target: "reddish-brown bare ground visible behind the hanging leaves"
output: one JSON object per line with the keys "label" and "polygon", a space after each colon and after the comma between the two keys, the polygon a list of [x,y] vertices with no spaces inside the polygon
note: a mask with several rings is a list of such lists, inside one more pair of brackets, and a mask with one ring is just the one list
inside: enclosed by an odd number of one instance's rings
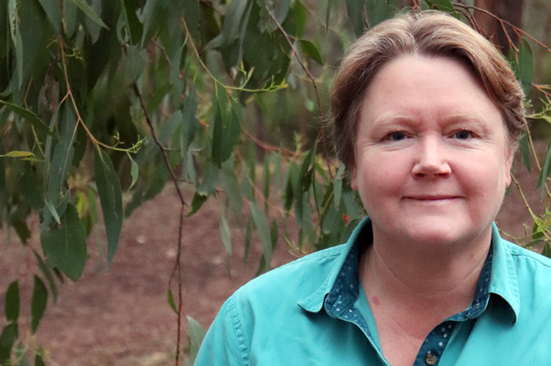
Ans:
{"label": "reddish-brown bare ground visible behind the hanging leaves", "polygon": [[[545,148],[545,144],[538,144],[538,148]],[[538,206],[537,177],[520,168],[518,158],[515,165],[515,176],[530,204]],[[101,261],[96,236],[103,240],[102,231],[91,236],[91,259],[82,279],[60,284],[57,303],[52,303],[50,297],[36,334],[36,342],[45,348],[47,365],[174,365],[176,314],[167,303],[166,293],[176,257],[179,209],[174,189],[167,187],[156,199],[135,211],[123,224],[119,251],[107,272],[98,270]],[[513,186],[497,223],[508,234],[522,236],[522,223],[528,219],[524,201]],[[38,222],[30,224],[33,233],[37,233]],[[34,235],[29,247],[39,248]],[[252,279],[257,269],[259,243],[253,241],[248,266],[243,266],[243,236],[239,230],[232,231],[232,235],[234,250],[229,277],[227,255],[218,231],[218,203],[207,202],[185,222],[183,311],[204,328],[216,317],[225,299]],[[0,231],[1,294],[10,281],[20,278],[21,291],[28,301],[32,291],[29,268],[33,263],[29,247],[22,247],[13,232]],[[294,258],[280,239],[272,267]],[[3,312],[3,298],[0,305]],[[4,325],[5,320],[0,317],[0,326]],[[28,330],[28,321],[22,321],[20,328]]]}

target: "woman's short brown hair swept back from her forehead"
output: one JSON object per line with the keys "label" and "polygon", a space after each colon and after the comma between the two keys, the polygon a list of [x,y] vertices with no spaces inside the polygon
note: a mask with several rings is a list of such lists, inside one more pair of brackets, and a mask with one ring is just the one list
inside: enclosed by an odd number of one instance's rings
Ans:
{"label": "woman's short brown hair swept back from her forehead", "polygon": [[333,80],[329,128],[338,158],[354,165],[359,111],[377,72],[403,55],[445,56],[467,65],[501,110],[511,147],[526,129],[524,92],[497,49],[467,24],[438,11],[410,12],[370,29],[349,48]]}

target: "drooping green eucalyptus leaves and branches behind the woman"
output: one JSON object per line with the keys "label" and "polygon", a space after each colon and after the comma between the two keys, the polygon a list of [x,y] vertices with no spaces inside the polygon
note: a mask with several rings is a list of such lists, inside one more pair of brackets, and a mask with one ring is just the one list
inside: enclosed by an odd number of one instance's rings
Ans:
{"label": "drooping green eucalyptus leaves and branches behind the woman", "polygon": [[[48,296],[56,301],[59,282],[82,275],[86,238],[100,220],[98,199],[106,267],[123,219],[167,182],[187,217],[218,199],[228,257],[230,225],[248,216],[239,229],[245,231],[245,262],[252,238],[259,238],[258,273],[269,270],[278,241],[304,253],[345,241],[365,212],[324,137],[326,90],[345,45],[405,11],[400,3],[4,1],[0,221],[29,245],[27,219],[40,220],[40,249],[31,248],[40,275],[33,275],[32,332]],[[473,20],[473,9],[453,4],[423,0],[419,6]],[[531,118],[551,121],[550,89],[532,86],[534,43],[526,39],[509,61],[527,94],[543,93],[544,107]],[[529,171],[537,167],[548,203],[551,145],[543,165],[536,160],[533,167],[531,144],[530,135],[522,139],[522,162]],[[551,213],[545,212],[533,214],[534,230],[519,242],[544,241],[548,255]],[[298,227],[296,236],[289,234],[291,225]],[[16,354],[28,356],[17,342],[24,337],[17,319],[26,305],[18,283],[6,292],[1,365]],[[179,312],[170,290],[167,302]],[[188,330],[193,360],[204,333],[193,319]],[[40,352],[34,360],[44,364]]]}

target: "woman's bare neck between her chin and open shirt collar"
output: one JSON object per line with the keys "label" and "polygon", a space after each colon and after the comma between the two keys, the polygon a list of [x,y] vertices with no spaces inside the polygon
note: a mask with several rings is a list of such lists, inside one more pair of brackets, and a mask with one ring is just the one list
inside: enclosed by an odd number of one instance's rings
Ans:
{"label": "woman's bare neck between her chin and open shirt collar", "polygon": [[[491,241],[491,229],[470,243],[388,243],[373,232],[360,277],[370,304],[442,321],[472,302]],[[395,309],[400,311],[400,309]]]}

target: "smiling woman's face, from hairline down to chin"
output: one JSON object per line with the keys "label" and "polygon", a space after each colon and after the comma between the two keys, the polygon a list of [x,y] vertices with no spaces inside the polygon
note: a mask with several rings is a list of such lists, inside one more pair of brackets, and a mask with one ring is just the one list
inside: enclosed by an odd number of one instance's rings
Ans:
{"label": "smiling woman's face, from hairline down to chin", "polygon": [[491,233],[513,152],[497,106],[458,61],[402,56],[358,121],[352,187],[377,238],[474,243]]}

